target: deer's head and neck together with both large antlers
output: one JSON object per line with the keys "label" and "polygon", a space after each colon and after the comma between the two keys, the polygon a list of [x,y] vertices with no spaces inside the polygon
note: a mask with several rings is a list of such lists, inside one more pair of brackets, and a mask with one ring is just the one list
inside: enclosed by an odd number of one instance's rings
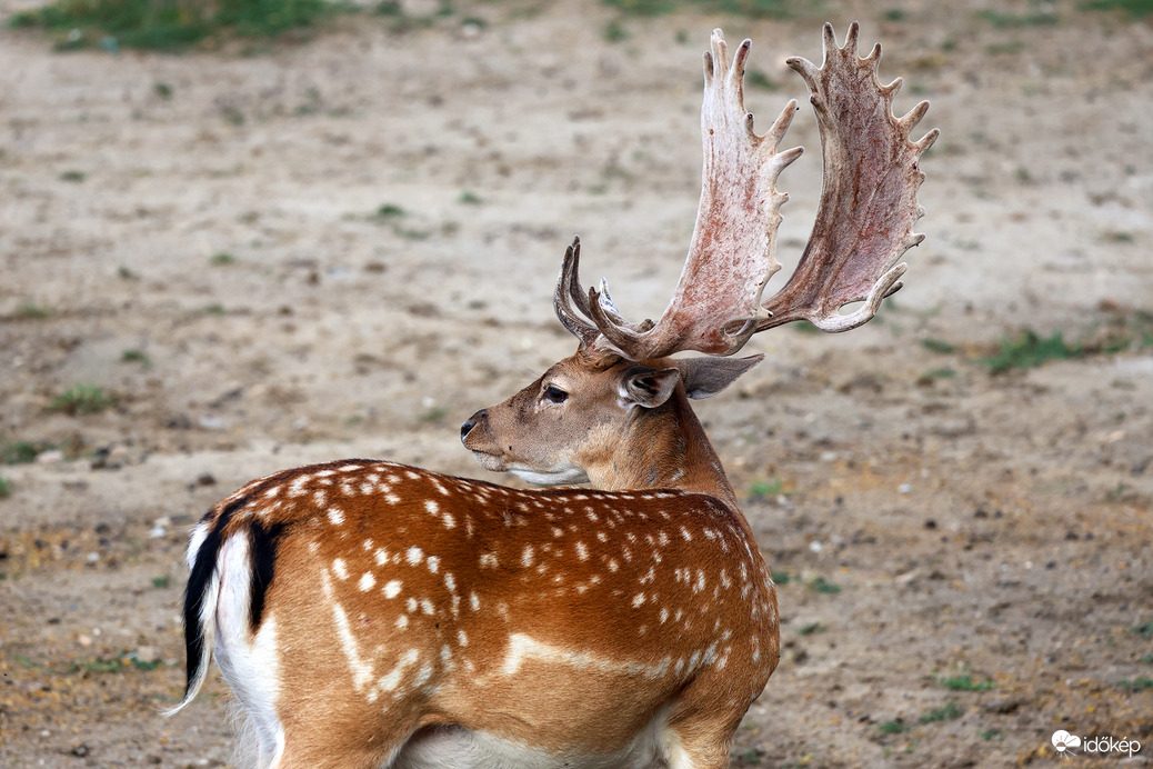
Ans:
{"label": "deer's head and neck together with both large antlers", "polygon": [[[823,148],[821,206],[808,246],[787,284],[762,294],[781,265],[775,258],[781,172],[801,154],[781,142],[797,111],[790,101],[759,135],[745,111],[744,74],[749,40],[730,61],[719,30],[704,54],[701,201],[688,256],[661,318],[630,323],[604,281],[582,288],[580,240],[565,251],[553,307],[579,340],[576,354],[504,402],[477,412],[461,440],[491,470],[510,470],[544,485],[591,480],[606,489],[683,483],[731,497],[686,398],[715,394],[762,356],[669,357],[699,350],[733,355],[754,333],[793,321],[824,331],[847,331],[869,321],[898,288],[900,256],[924,235],[912,232],[924,214],[918,163],[937,137],[917,142],[910,130],[925,115],[922,101],[892,115],[900,80],[877,80],[881,46],[857,55],[859,28],[838,46],[824,27],[824,62],[787,63],[807,83]],[[864,304],[851,314],[841,308]],[[688,444],[692,444],[689,446]]]}

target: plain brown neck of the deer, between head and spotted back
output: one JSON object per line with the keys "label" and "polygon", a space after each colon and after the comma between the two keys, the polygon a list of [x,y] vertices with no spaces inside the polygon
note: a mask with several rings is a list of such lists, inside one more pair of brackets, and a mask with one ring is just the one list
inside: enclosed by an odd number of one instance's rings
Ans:
{"label": "plain brown neck of the deer, between head and spotted back", "polygon": [[739,510],[721,460],[683,393],[662,408],[639,410],[624,433],[605,438],[585,462],[594,485],[609,491],[698,491]]}

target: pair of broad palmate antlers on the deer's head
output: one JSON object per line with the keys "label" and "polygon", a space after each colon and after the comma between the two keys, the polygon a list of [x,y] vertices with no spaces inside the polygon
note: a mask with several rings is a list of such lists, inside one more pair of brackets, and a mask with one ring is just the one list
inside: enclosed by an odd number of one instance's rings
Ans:
{"label": "pair of broad palmate antlers on the deer's head", "polygon": [[[801,153],[800,148],[777,150],[797,103],[790,101],[769,131],[758,136],[743,89],[752,44],[745,40],[730,65],[724,37],[714,30],[711,51],[704,54],[701,203],[680,280],[657,323],[628,323],[603,280],[600,289],[581,288],[580,241],[574,240],[553,303],[583,352],[634,361],[687,349],[731,355],[754,333],[792,321],[807,319],[824,331],[854,329],[900,287],[905,265],[896,262],[924,239],[912,232],[925,213],[917,203],[925,179],[918,161],[939,131],[910,141],[928,101],[900,119],[892,115],[902,81],[882,85],[877,80],[880,44],[865,59],[857,55],[859,29],[856,22],[850,25],[839,47],[826,24],[820,68],[800,58],[787,61],[812,95],[824,180],[808,246],[785,287],[761,303],[766,284],[781,269],[774,249],[787,196],[776,190],[776,180]],[[862,300],[854,312],[839,312]]]}

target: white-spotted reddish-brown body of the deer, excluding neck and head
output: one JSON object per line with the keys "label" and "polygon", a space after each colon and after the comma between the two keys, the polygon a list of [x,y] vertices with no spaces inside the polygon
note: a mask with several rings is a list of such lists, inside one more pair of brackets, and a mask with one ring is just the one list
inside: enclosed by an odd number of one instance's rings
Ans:
{"label": "white-spotted reddish-brown body of the deer, excluding neck and head", "polygon": [[[768,568],[740,513],[699,492],[352,460],[251,483],[196,537],[218,664],[285,767],[648,767],[702,738],[726,757],[777,663]],[[534,759],[464,760],[476,740]]]}

